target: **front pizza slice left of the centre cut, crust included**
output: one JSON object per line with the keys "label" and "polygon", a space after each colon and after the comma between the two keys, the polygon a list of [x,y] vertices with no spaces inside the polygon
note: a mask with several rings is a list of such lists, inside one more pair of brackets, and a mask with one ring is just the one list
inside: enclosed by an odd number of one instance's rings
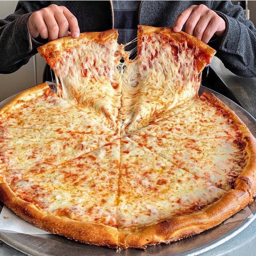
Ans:
{"label": "front pizza slice left of the centre cut, crust included", "polygon": [[[45,230],[116,248],[119,166],[120,139],[117,139],[44,173],[15,182],[10,186],[15,193],[11,196],[20,199],[1,200],[26,221]],[[0,196],[3,186],[7,184],[0,184]]]}

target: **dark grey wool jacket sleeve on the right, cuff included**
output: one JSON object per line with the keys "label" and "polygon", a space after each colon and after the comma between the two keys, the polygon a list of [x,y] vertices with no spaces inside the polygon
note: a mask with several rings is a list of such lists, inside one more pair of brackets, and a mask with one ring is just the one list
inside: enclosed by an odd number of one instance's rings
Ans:
{"label": "dark grey wool jacket sleeve on the right, cuff included", "polygon": [[211,9],[226,22],[226,31],[219,43],[209,45],[217,50],[225,67],[242,77],[256,77],[256,29],[243,18],[243,8],[231,1],[211,1]]}

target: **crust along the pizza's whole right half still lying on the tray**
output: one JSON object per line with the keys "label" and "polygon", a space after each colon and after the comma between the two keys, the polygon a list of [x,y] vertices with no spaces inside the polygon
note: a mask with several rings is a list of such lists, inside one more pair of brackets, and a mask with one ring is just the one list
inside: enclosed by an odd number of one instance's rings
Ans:
{"label": "crust along the pizza's whole right half still lying on the tray", "polygon": [[212,93],[205,92],[200,99],[205,99],[216,108],[221,108],[225,115],[239,126],[241,139],[245,146],[247,163],[242,173],[234,183],[234,189],[226,192],[221,199],[207,206],[203,210],[185,215],[172,217],[158,224],[119,230],[120,248],[141,248],[146,245],[174,242],[208,230],[225,219],[231,217],[246,205],[253,202],[256,192],[256,139],[250,133],[240,118]]}

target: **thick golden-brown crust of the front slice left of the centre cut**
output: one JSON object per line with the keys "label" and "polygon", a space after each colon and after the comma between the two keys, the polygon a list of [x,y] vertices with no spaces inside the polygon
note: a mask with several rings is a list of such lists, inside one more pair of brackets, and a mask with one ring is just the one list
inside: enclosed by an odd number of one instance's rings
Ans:
{"label": "thick golden-brown crust of the front slice left of the centre cut", "polygon": [[118,247],[116,228],[103,224],[74,221],[43,212],[32,203],[17,197],[7,183],[0,184],[0,200],[25,221],[51,233],[64,235],[67,238],[91,245]]}

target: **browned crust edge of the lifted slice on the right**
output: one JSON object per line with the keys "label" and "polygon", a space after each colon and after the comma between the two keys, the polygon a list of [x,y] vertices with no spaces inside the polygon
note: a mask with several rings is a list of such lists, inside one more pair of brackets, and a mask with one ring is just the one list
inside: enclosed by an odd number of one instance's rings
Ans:
{"label": "browned crust edge of the lifted slice on the right", "polygon": [[216,53],[216,51],[206,45],[206,43],[183,31],[176,33],[171,27],[150,27],[142,25],[138,25],[138,52],[140,51],[139,44],[142,35],[152,35],[154,33],[159,33],[170,39],[174,39],[175,41],[187,42],[187,45],[198,47],[200,50],[200,53],[196,56],[198,73],[200,73],[203,68],[210,63],[211,58]]}

